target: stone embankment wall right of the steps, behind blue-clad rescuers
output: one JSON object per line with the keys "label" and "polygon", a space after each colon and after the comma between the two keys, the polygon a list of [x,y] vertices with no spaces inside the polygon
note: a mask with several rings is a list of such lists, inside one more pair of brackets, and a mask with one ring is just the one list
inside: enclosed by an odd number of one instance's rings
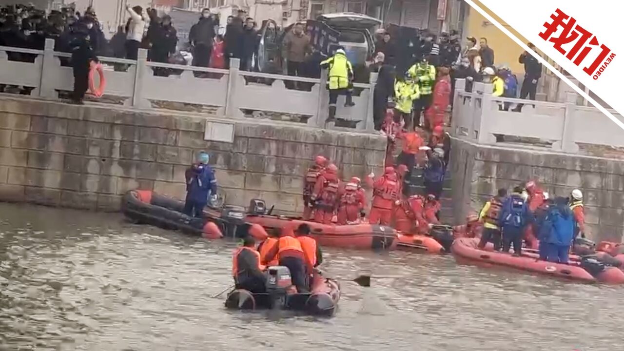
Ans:
{"label": "stone embankment wall right of the steps, behind blue-clad rescuers", "polygon": [[552,196],[583,191],[585,220],[593,239],[622,241],[624,162],[563,153],[482,146],[452,139],[452,199],[456,222],[477,211],[505,187],[537,180]]}

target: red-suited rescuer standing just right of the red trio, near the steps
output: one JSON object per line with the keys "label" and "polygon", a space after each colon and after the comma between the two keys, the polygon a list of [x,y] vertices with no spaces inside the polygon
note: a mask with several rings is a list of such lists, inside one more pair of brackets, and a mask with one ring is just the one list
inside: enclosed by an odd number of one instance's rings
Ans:
{"label": "red-suited rescuer standing just right of the red trio, near the steps", "polygon": [[389,225],[392,219],[392,206],[399,197],[399,182],[393,167],[386,167],[384,175],[374,180],[374,173],[368,175],[373,184],[373,206],[368,215],[370,224]]}

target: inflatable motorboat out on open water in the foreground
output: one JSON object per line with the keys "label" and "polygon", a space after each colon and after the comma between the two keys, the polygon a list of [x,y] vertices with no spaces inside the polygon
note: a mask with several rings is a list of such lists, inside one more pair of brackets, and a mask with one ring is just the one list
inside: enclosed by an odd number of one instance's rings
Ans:
{"label": "inflatable motorboat out on open water in the foreground", "polygon": [[228,309],[285,309],[331,317],[340,299],[340,285],[314,272],[310,293],[298,294],[287,267],[271,266],[266,270],[266,292],[256,294],[245,289],[232,290],[225,299]]}

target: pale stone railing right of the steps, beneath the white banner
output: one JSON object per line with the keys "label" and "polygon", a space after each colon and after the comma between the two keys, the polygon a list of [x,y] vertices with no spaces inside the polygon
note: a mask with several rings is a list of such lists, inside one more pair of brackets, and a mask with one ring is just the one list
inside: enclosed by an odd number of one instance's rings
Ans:
{"label": "pale stone railing right of the steps, beneath the white banner", "polygon": [[[624,131],[595,107],[577,106],[577,94],[568,93],[565,103],[530,101],[494,97],[492,84],[475,83],[472,92],[466,92],[465,85],[464,79],[456,82],[451,124],[455,137],[496,144],[495,134],[500,134],[568,153],[577,152],[579,144],[624,147]],[[521,112],[513,111],[517,104],[524,104]]]}

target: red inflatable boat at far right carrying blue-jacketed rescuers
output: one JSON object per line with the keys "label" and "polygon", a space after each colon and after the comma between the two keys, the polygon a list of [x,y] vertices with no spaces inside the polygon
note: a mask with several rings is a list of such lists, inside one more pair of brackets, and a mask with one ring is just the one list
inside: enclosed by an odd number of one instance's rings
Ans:
{"label": "red inflatable boat at far right carrying blue-jacketed rescuers", "polygon": [[571,259],[568,264],[560,264],[540,260],[534,250],[526,250],[522,256],[517,257],[495,252],[491,244],[485,249],[479,249],[477,244],[479,244],[479,239],[459,238],[455,240],[451,252],[457,263],[481,267],[507,267],[583,283],[624,284],[622,270],[592,258],[577,257],[577,259]]}

